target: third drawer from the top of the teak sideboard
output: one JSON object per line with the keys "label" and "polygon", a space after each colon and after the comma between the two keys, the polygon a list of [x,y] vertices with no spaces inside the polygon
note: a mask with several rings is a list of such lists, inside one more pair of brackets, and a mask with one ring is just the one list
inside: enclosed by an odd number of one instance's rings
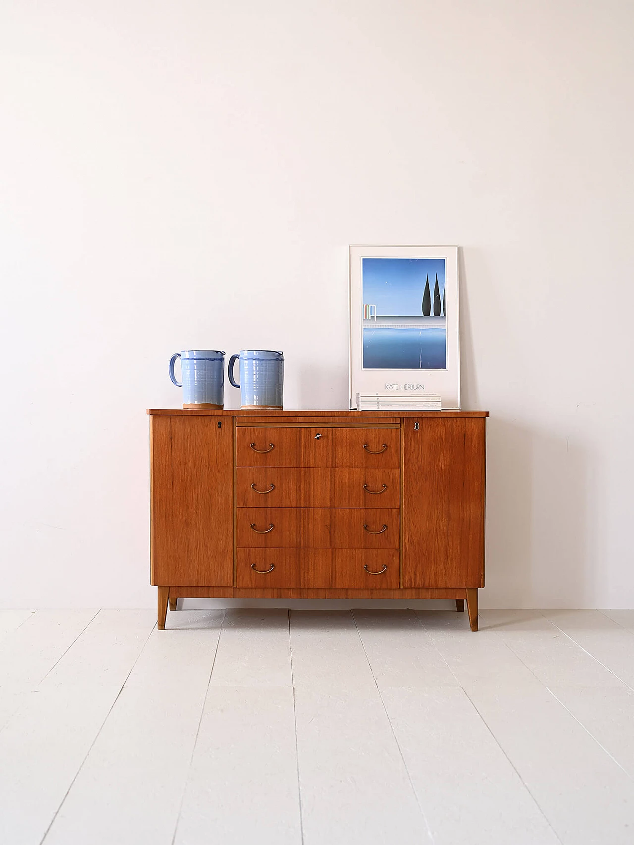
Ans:
{"label": "third drawer from the top of the teak sideboard", "polygon": [[399,548],[398,508],[238,508],[238,548]]}

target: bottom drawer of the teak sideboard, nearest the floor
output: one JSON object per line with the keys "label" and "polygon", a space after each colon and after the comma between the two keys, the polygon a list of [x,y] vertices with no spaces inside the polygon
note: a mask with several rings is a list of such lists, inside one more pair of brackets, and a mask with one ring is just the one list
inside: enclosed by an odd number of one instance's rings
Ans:
{"label": "bottom drawer of the teak sideboard, nearest the floor", "polygon": [[238,548],[236,586],[391,590],[399,563],[396,549]]}

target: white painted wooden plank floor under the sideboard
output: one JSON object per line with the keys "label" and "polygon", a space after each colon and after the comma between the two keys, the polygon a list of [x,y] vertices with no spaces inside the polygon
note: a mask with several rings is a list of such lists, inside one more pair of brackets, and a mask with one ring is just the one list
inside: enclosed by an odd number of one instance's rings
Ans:
{"label": "white painted wooden plank floor under the sideboard", "polygon": [[634,611],[0,611],[7,845],[631,845]]}

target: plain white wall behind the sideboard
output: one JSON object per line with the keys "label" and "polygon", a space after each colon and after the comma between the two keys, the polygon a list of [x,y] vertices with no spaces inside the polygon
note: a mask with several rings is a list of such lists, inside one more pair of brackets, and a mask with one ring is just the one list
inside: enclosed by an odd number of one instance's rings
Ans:
{"label": "plain white wall behind the sideboard", "polygon": [[0,17],[3,605],[152,605],[171,353],[283,349],[288,408],[346,407],[347,244],[457,243],[481,602],[634,606],[631,3]]}

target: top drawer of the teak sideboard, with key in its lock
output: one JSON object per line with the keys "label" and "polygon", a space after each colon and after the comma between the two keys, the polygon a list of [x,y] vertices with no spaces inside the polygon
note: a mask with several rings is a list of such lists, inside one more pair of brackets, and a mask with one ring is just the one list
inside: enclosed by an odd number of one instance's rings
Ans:
{"label": "top drawer of the teak sideboard, with key in its lock", "polygon": [[401,429],[252,426],[236,429],[238,466],[401,466]]}

